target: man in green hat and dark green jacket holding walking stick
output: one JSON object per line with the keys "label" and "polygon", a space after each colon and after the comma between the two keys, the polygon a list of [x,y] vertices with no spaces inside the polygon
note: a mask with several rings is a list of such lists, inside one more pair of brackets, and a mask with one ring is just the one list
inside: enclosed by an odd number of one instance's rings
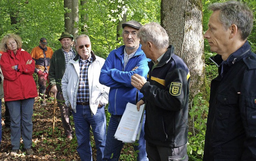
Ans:
{"label": "man in green hat and dark green jacket holding walking stick", "polygon": [[61,90],[61,79],[65,73],[66,66],[70,59],[73,59],[76,56],[76,52],[71,47],[71,42],[73,40],[73,35],[68,32],[62,32],[59,41],[62,44],[62,47],[54,51],[52,59],[50,62],[49,69],[49,81],[51,86],[51,92],[54,94],[54,97],[58,100],[58,106],[60,108],[62,124],[64,132],[66,134],[66,141],[72,139],[72,127],[70,125],[70,108],[65,105],[64,98]]}

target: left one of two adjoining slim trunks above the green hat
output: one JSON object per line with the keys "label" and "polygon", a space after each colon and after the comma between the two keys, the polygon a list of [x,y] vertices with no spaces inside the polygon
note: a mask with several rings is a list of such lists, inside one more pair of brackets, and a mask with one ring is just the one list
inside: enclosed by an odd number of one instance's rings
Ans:
{"label": "left one of two adjoining slim trunks above the green hat", "polygon": [[73,26],[72,26],[72,0],[64,0],[64,18],[65,18],[65,31],[72,34]]}

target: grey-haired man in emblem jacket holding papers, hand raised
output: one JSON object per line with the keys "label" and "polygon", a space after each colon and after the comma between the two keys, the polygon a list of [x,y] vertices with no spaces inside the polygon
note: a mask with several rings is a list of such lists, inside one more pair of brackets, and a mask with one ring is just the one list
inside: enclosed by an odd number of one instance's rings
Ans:
{"label": "grey-haired man in emblem jacket holding papers, hand raised", "polygon": [[165,29],[157,23],[138,31],[148,63],[147,81],[134,74],[131,84],[143,94],[145,103],[146,152],[152,161],[187,161],[188,94],[190,73],[184,61],[174,54]]}

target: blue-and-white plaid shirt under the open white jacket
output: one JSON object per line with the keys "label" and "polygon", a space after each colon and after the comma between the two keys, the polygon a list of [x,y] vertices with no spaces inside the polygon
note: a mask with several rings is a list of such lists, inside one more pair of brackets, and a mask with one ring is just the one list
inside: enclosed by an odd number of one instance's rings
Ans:
{"label": "blue-and-white plaid shirt under the open white jacket", "polygon": [[80,77],[76,102],[89,102],[88,67],[91,63],[91,56],[85,61],[79,57]]}

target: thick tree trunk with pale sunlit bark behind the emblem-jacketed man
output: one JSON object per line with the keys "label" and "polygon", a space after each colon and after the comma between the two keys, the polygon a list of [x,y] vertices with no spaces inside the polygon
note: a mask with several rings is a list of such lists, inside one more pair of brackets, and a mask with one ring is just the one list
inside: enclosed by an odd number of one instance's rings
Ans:
{"label": "thick tree trunk with pale sunlit bark behind the emblem-jacketed man", "polygon": [[162,0],[161,25],[169,35],[175,54],[190,69],[190,99],[206,92],[202,0]]}

